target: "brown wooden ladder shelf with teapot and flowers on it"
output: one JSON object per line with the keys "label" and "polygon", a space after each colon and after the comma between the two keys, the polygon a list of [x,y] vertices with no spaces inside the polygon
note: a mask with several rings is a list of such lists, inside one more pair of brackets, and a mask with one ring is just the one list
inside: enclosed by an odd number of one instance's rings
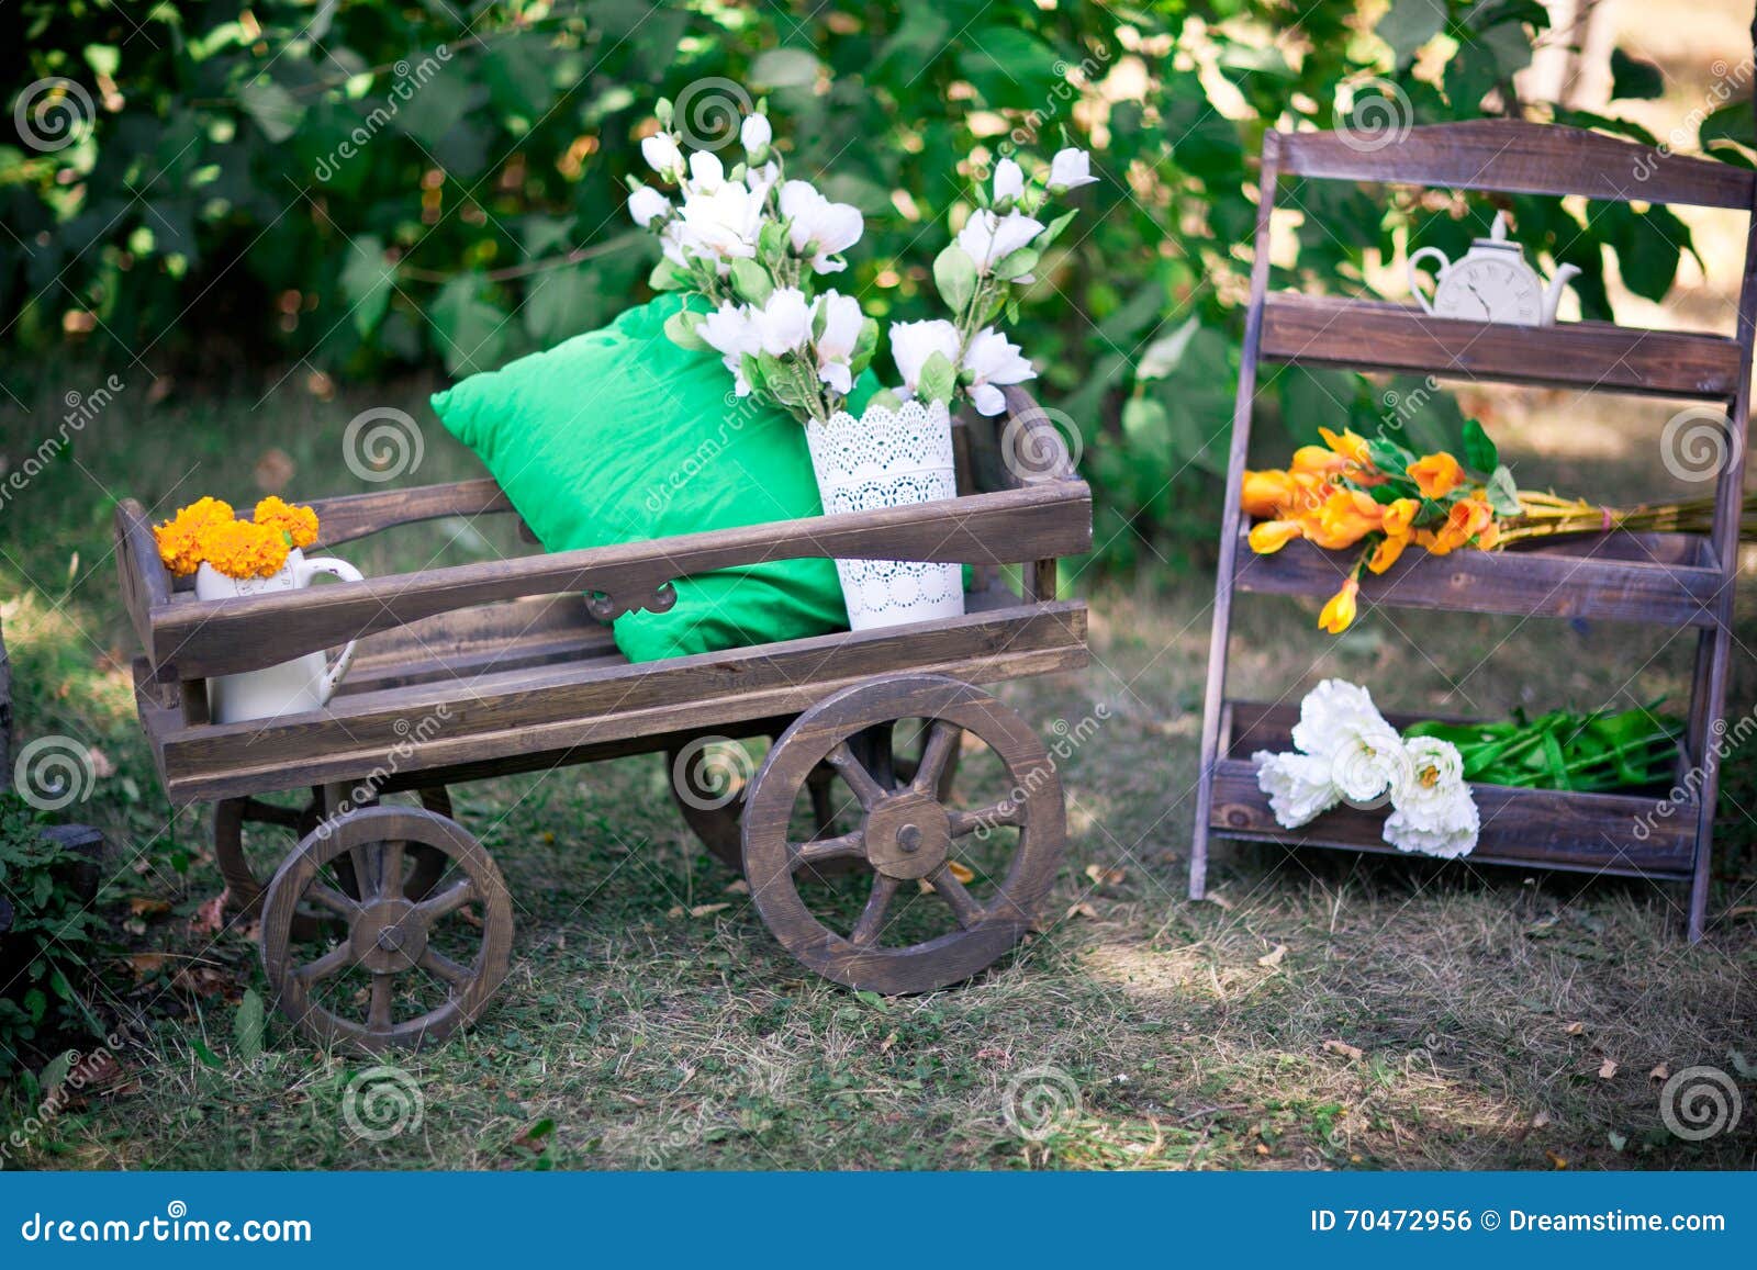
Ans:
{"label": "brown wooden ladder shelf with teapot and flowers on it", "polygon": [[[1638,172],[1646,177],[1638,179]],[[1578,128],[1476,119],[1411,128],[1370,153],[1353,137],[1328,132],[1270,132],[1263,139],[1256,260],[1233,409],[1202,718],[1202,775],[1189,861],[1193,899],[1207,887],[1211,836],[1393,850],[1381,840],[1383,812],[1337,808],[1302,829],[1277,826],[1249,755],[1288,748],[1298,710],[1226,697],[1233,594],[1330,595],[1353,564],[1353,557],[1305,541],[1290,543],[1274,555],[1253,555],[1246,543],[1249,518],[1239,508],[1239,492],[1260,362],[1696,399],[1724,406],[1732,427],[1745,429],[1750,418],[1757,216],[1746,237],[1736,339],[1602,321],[1513,327],[1434,318],[1379,300],[1269,293],[1269,223],[1283,176],[1757,211],[1757,177],[1750,170],[1659,155]],[[1671,815],[1655,815],[1655,801],[1641,796],[1472,785],[1483,831],[1469,855],[1486,864],[1690,882],[1690,940],[1701,938],[1708,913],[1720,768],[1713,727],[1725,713],[1732,653],[1745,446],[1729,446],[1729,453],[1715,483],[1715,520],[1708,536],[1613,532],[1565,538],[1536,550],[1455,552],[1444,559],[1409,552],[1383,576],[1365,576],[1360,588],[1363,608],[1601,618],[1697,632],[1678,769],[1685,803]]]}

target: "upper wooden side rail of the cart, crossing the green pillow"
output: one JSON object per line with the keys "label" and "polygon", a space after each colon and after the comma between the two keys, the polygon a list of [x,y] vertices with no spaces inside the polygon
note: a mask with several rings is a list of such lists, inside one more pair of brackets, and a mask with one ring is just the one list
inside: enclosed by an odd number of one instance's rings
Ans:
{"label": "upper wooden side rail of the cart, crossing the green pillow", "polygon": [[968,499],[169,604],[153,613],[149,655],[160,678],[186,680],[257,669],[436,613],[522,595],[596,590],[618,608],[633,608],[675,578],[763,560],[1019,564],[1089,546],[1086,485],[1044,481]]}

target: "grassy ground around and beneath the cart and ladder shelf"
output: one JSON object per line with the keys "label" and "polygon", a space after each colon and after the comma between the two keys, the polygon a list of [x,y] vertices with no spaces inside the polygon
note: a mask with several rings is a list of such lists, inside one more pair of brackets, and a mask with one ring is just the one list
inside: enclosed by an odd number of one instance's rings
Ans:
{"label": "grassy ground around and beneath the cart and ladder shelf", "polygon": [[[30,415],[0,415],[14,464],[63,390],[40,388]],[[1650,1077],[1660,1064],[1734,1072],[1757,1059],[1748,755],[1729,764],[1720,920],[1701,947],[1681,938],[1676,887],[1469,862],[1223,848],[1214,901],[1193,905],[1184,884],[1207,578],[1133,590],[1077,578],[1093,601],[1093,666],[1001,689],[1045,738],[1100,703],[1110,713],[1063,764],[1074,841],[1047,929],[952,991],[878,999],[805,971],[689,836],[655,757],[453,790],[459,819],[515,896],[513,973],[473,1031],[394,1059],[420,1091],[418,1128],[362,1138],[344,1103],[372,1063],[323,1052],[272,1017],[251,1057],[237,1019],[246,994],[267,985],[249,933],[190,927],[221,887],[206,808],[167,815],[132,718],[132,636],[107,557],[112,495],[160,513],[204,492],[242,497],[271,448],[295,467],[292,497],[367,488],[341,462],[346,420],[381,404],[429,418],[422,385],[325,402],[292,381],[255,409],[260,395],[174,390],[153,402],[144,381],[130,385],[76,439],[77,464],[60,462],[4,511],[0,617],[19,738],[76,736],[114,769],[77,810],[111,840],[100,906],[118,943],[86,989],[132,1038],[119,1070],[35,1131],[18,1163],[1753,1165],[1748,1070],[1745,1122],[1704,1144],[1666,1133]],[[427,423],[413,480],[473,473]],[[430,525],[346,555],[383,573],[517,550],[510,530],[480,529]],[[1746,643],[1750,617],[1745,597]],[[1281,692],[1337,673],[1374,685],[1388,708],[1497,713],[1681,699],[1687,689],[1690,648],[1667,632],[1399,613],[1397,625],[1369,618],[1332,643],[1312,618],[1295,603],[1244,603],[1233,690]],[[1753,669],[1741,653],[1734,713],[1757,697]],[[726,906],[691,915],[708,905]],[[1601,1075],[1606,1061],[1615,1072]],[[1047,1138],[1009,1126],[1009,1100],[1066,1091],[1077,1105]],[[28,1110],[21,1089],[9,1091],[0,1129]]]}

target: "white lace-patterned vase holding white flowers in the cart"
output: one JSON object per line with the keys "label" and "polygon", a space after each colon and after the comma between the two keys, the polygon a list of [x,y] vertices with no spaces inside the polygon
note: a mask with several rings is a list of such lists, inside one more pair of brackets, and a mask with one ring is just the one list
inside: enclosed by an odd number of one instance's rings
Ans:
{"label": "white lace-patterned vase holding white flowers in the cart", "polygon": [[[944,404],[873,406],[861,418],[840,411],[826,423],[806,423],[805,439],[826,515],[958,497],[952,420]],[[854,631],[965,611],[958,564],[836,560],[836,573]]]}

